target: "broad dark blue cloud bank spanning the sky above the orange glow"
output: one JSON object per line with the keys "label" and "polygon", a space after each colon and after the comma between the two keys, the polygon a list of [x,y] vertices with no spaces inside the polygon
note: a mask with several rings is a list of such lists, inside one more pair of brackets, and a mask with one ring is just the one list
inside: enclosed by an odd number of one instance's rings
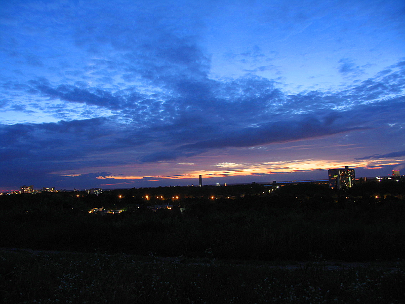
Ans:
{"label": "broad dark blue cloud bank spanning the sky above the orange glow", "polygon": [[[2,155],[7,160],[70,160],[77,166],[84,166],[80,159],[92,157],[106,164],[174,161],[211,149],[367,130],[383,121],[382,112],[389,115],[385,120],[399,121],[405,105],[403,96],[391,96],[405,87],[399,64],[333,93],[286,95],[274,82],[251,75],[230,81],[183,77],[171,81],[171,91],[156,96],[141,94],[136,87],[113,92],[82,83],[55,87],[46,79],[30,81],[35,92],[49,98],[107,107],[115,115],[2,126]],[[29,86],[18,88],[26,91]],[[51,104],[47,111],[68,117],[69,111],[63,107],[66,105]],[[84,112],[85,116],[91,117],[92,112]],[[121,159],[109,158],[108,153]]]}

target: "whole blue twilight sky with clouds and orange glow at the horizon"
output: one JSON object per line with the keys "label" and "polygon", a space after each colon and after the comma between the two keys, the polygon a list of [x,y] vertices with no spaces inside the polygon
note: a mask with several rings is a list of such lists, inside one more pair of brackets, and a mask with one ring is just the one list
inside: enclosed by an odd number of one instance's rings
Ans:
{"label": "whole blue twilight sky with clouds and orange glow at the horizon", "polygon": [[405,2],[0,0],[0,191],[405,173]]}

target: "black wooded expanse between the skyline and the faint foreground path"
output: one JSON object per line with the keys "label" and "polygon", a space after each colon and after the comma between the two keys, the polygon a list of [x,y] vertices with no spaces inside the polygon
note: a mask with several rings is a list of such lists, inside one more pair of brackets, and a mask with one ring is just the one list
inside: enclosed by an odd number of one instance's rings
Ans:
{"label": "black wooded expanse between the skyline and the faint foreground path", "polygon": [[[155,204],[173,207],[147,208]],[[2,247],[263,260],[405,258],[401,181],[342,191],[251,184],[3,195],[0,207]],[[125,211],[89,214],[95,207]]]}

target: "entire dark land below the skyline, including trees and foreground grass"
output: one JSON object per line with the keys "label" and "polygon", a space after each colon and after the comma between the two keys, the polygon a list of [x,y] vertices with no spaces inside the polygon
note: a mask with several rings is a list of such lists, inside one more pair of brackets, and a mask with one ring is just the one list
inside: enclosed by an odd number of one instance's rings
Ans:
{"label": "entire dark land below the skyline, including trees and foreground grass", "polygon": [[[156,212],[143,189],[3,195],[0,247],[38,251],[0,251],[0,301],[405,302],[403,182],[255,187],[168,199],[172,209]],[[125,211],[88,213],[101,206]]]}

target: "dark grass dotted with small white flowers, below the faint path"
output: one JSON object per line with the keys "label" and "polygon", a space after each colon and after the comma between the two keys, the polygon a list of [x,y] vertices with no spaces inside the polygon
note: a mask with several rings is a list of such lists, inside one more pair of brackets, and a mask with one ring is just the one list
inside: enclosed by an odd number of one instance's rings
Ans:
{"label": "dark grass dotted with small white flowers, below the faint path", "polygon": [[0,252],[6,303],[400,303],[404,262],[326,267],[125,254]]}

